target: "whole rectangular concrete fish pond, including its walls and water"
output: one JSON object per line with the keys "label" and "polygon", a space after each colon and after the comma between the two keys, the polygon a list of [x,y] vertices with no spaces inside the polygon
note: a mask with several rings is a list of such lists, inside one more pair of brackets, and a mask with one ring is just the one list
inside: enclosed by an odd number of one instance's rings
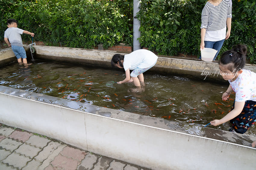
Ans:
{"label": "whole rectangular concrete fish pond, including its walls and water", "polygon": [[145,74],[145,91],[134,94],[130,84],[107,84],[124,76],[109,68],[115,52],[33,48],[28,68],[10,64],[10,49],[0,51],[7,64],[0,69],[1,123],[149,169],[256,165],[254,127],[244,135],[226,131],[228,124],[204,127],[233,104],[221,100],[228,85],[217,63],[159,57]]}

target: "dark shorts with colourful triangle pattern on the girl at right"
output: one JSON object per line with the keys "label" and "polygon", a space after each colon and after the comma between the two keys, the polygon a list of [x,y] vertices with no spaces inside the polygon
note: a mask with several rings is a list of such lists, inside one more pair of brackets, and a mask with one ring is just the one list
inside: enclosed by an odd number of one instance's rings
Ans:
{"label": "dark shorts with colourful triangle pattern on the girl at right", "polygon": [[[234,109],[235,102],[232,106]],[[234,130],[237,133],[245,133],[252,124],[256,121],[256,102],[252,100],[246,100],[245,106],[242,112],[235,118],[230,120],[230,123],[233,125]]]}

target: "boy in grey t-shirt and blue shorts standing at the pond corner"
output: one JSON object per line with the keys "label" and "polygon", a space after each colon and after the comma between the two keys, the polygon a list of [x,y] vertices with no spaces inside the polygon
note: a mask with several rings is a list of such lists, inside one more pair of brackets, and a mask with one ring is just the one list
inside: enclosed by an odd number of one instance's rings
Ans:
{"label": "boy in grey t-shirt and blue shorts standing at the pond corner", "polygon": [[25,33],[34,37],[34,33],[17,28],[18,24],[15,19],[8,19],[7,26],[8,28],[5,31],[5,42],[9,47],[11,46],[12,51],[18,59],[18,63],[22,64],[23,62],[24,66],[27,66],[27,55],[20,34]]}

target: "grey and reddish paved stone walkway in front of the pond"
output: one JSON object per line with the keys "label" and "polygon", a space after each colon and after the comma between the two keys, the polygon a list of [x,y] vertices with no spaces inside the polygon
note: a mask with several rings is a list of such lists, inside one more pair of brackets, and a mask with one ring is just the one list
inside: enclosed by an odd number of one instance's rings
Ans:
{"label": "grey and reddish paved stone walkway in front of the pond", "polygon": [[0,126],[0,170],[57,169],[148,170],[24,130]]}

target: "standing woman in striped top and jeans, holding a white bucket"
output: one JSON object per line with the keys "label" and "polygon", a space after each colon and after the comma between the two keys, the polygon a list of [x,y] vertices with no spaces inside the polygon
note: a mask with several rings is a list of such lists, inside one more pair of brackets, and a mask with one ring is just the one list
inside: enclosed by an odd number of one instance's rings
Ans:
{"label": "standing woman in striped top and jeans, holding a white bucket", "polygon": [[[216,59],[224,40],[228,39],[231,30],[232,0],[209,0],[201,14],[200,50],[213,48],[217,50]],[[226,32],[226,28],[227,32]],[[201,59],[201,56],[200,56]]]}

